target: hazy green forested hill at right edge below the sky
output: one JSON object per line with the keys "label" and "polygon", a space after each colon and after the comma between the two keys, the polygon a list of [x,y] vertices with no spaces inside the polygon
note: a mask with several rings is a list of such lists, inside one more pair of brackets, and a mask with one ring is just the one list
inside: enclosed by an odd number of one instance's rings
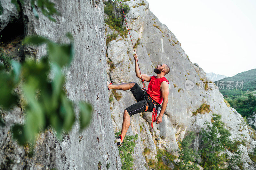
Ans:
{"label": "hazy green forested hill at right edge below the sky", "polygon": [[[223,82],[224,81],[224,82]],[[233,77],[227,77],[219,80],[219,83],[217,81],[214,81],[214,83],[220,88],[220,82],[224,84],[224,89],[231,90],[233,87],[236,89],[236,85],[238,85],[237,89],[242,90],[242,91],[254,91],[256,90],[256,69],[244,71],[241,73],[236,74]],[[243,87],[242,87],[243,86]]]}

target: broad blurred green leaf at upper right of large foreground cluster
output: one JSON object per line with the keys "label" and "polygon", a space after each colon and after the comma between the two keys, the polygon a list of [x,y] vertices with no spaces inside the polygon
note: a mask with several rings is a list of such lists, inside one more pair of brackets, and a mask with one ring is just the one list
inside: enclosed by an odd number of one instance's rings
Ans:
{"label": "broad blurred green leaf at upper right of large foreground cluster", "polygon": [[59,45],[51,42],[48,44],[48,49],[52,63],[56,63],[60,67],[71,63],[73,59],[73,47],[71,44]]}

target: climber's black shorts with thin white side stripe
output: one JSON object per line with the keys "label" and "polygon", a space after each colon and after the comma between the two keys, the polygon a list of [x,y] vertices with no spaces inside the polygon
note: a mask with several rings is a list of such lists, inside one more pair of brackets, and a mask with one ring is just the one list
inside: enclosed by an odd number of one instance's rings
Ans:
{"label": "climber's black shorts with thin white side stripe", "polygon": [[[125,110],[127,110],[130,117],[134,114],[144,112],[146,110],[146,107],[148,105],[148,110],[146,112],[152,112],[154,108],[154,103],[157,102],[152,100],[152,98],[148,97],[149,95],[146,93],[145,100],[143,97],[143,90],[140,88],[140,86],[135,83],[135,85],[130,90],[137,101],[137,103],[127,107]],[[154,102],[154,103],[153,103]],[[157,103],[157,105],[159,105]],[[156,106],[157,106],[156,105]]]}

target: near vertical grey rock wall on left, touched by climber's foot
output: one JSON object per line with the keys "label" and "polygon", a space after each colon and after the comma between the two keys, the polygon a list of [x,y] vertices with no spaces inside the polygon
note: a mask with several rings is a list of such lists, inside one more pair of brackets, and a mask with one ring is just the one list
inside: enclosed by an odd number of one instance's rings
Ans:
{"label": "near vertical grey rock wall on left, touched by climber's foot", "polygon": [[[25,36],[36,34],[58,43],[68,42],[65,34],[72,33],[75,40],[75,57],[66,70],[67,96],[74,102],[88,101],[93,106],[92,122],[82,133],[76,122],[72,131],[62,141],[58,141],[49,129],[42,132],[36,141],[33,157],[28,155],[28,146],[19,146],[12,141],[10,127],[22,123],[23,112],[14,107],[1,115],[5,125],[0,126],[0,166],[1,169],[121,169],[121,161],[110,116],[106,87],[106,39],[104,34],[104,9],[99,0],[54,1],[60,16],[50,21],[38,9],[39,19],[34,16],[30,1],[25,1],[20,12],[11,0],[10,7],[1,15],[1,30],[13,16],[22,17]],[[10,12],[12,11],[12,12]],[[40,59],[46,53],[45,47],[25,47],[25,55]],[[101,81],[99,81],[101,80]],[[75,106],[76,115],[78,109]],[[100,114],[99,114],[100,113]],[[81,141],[79,136],[83,135]]]}

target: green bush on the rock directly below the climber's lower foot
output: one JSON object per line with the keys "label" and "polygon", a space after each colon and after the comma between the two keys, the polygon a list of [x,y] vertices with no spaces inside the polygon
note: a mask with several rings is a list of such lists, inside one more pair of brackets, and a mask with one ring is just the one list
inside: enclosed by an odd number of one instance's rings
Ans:
{"label": "green bush on the rock directly below the climber's lower foot", "polygon": [[[121,132],[116,132],[115,135],[119,136]],[[122,162],[122,169],[132,170],[133,157],[132,152],[135,147],[135,140],[138,139],[138,134],[136,135],[126,135],[124,138],[124,143],[121,147],[118,147],[120,159]]]}

